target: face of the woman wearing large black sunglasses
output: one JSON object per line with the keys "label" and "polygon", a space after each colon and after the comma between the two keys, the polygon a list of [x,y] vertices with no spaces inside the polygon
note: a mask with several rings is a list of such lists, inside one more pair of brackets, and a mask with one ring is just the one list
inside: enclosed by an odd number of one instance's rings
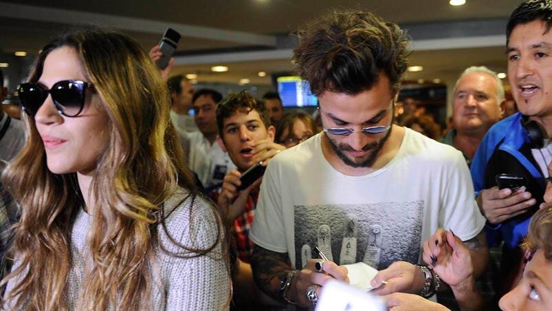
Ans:
{"label": "face of the woman wearing large black sunglasses", "polygon": [[[59,47],[46,57],[38,84],[50,89],[63,80],[87,82],[85,69],[76,51]],[[109,143],[109,120],[98,108],[100,95],[87,89],[85,106],[78,116],[69,118],[58,114],[52,96],[46,98],[36,112],[36,129],[44,143],[47,166],[52,173],[80,172],[88,175]]]}

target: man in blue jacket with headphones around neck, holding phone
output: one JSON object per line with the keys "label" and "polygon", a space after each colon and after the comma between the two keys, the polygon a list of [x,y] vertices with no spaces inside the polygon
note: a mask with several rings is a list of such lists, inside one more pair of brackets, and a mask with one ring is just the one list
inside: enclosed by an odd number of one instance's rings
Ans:
{"label": "man in blue jacket with headphones around neck, holding phone", "polygon": [[[519,248],[529,219],[543,202],[552,161],[552,1],[520,4],[507,25],[508,76],[519,113],[494,125],[476,152],[471,172],[487,242],[504,242],[500,270],[503,291],[521,273]],[[520,189],[498,189],[496,175],[524,178]],[[500,294],[500,290],[498,294]]]}

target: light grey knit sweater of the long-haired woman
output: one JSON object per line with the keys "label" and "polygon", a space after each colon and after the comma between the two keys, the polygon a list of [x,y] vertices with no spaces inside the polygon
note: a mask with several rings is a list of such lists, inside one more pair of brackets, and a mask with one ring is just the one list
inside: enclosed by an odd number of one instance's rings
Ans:
{"label": "light grey knit sweater of the long-haired woman", "polygon": [[[182,202],[185,196],[186,193],[180,191],[164,204],[168,233],[184,246],[207,248],[217,239],[217,219],[214,217],[212,208],[199,196],[195,198],[190,213],[191,200]],[[86,243],[91,222],[93,222],[91,216],[80,211],[72,228],[71,256],[74,265],[69,272],[67,290],[64,293],[69,310],[76,309],[82,283],[85,281],[85,271],[88,270],[85,267],[92,264]],[[174,253],[182,253],[181,248],[170,242],[162,227],[158,227],[159,243]],[[228,310],[230,275],[221,255],[227,251],[222,249],[219,243],[206,256],[181,259],[157,248],[156,262],[151,265],[154,284],[151,303],[144,309]],[[14,280],[8,283],[8,292],[13,286]],[[8,301],[7,305],[10,306],[9,310],[25,308],[14,305],[14,301]]]}

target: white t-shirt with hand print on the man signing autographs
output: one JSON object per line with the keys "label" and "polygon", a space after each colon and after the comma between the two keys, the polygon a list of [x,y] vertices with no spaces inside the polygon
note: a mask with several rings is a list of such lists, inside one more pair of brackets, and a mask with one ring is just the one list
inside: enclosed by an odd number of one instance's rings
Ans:
{"label": "white t-shirt with hand print on the man signing autographs", "polygon": [[337,264],[414,264],[437,228],[467,240],[485,225],[470,171],[453,147],[406,129],[385,167],[349,176],[327,162],[321,137],[269,162],[250,235],[267,250],[289,253],[296,269],[318,258],[314,246]]}

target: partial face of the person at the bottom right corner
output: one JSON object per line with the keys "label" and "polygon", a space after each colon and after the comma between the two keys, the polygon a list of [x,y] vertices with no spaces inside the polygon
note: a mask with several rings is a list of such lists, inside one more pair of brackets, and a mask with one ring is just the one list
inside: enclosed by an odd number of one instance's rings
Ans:
{"label": "partial face of the person at the bottom right corner", "polygon": [[500,299],[500,309],[552,310],[552,262],[540,249],[527,262],[518,286]]}

